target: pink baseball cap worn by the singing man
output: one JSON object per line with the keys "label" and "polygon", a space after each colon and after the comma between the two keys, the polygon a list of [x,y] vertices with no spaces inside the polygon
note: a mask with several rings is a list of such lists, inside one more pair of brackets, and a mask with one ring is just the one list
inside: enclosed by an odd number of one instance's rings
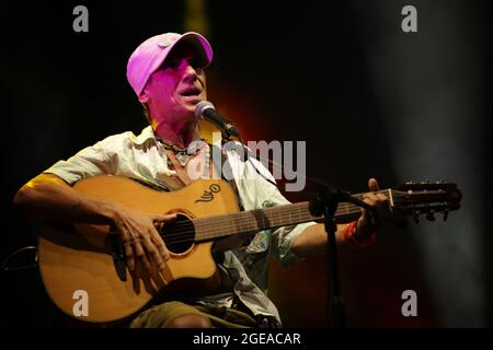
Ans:
{"label": "pink baseball cap worn by the singing man", "polygon": [[128,59],[127,80],[137,96],[140,96],[149,77],[161,67],[173,47],[177,43],[183,42],[191,43],[197,48],[202,68],[210,65],[213,61],[213,48],[209,42],[198,33],[165,33],[152,36],[140,44]]}

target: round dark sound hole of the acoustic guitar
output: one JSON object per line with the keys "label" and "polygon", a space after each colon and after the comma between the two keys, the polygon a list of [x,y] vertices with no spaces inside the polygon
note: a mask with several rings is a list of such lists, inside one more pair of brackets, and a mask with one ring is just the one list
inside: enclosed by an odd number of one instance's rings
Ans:
{"label": "round dark sound hole of the acoustic guitar", "polygon": [[180,254],[188,250],[195,238],[195,226],[187,217],[176,215],[176,221],[165,223],[161,230],[161,236],[168,250]]}

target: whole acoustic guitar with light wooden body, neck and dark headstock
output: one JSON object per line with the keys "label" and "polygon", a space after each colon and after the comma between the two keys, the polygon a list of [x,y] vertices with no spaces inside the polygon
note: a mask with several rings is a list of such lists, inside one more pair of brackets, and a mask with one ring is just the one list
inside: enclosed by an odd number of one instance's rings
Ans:
{"label": "whole acoustic guitar with light wooden body, neck and dark headstock", "polygon": [[[122,240],[111,225],[44,226],[38,266],[48,295],[68,315],[93,323],[131,316],[180,282],[182,288],[214,289],[215,242],[323,219],[310,213],[308,201],[239,211],[236,194],[221,179],[200,179],[181,190],[163,192],[125,177],[96,176],[78,182],[73,188],[149,214],[177,213],[177,220],[160,232],[171,253],[164,272],[147,273],[138,267],[130,273]],[[449,183],[406,183],[380,191],[389,198],[389,210],[415,218],[426,213],[433,219],[440,212],[446,219],[449,211],[460,207],[461,194]],[[344,223],[359,214],[358,207],[342,202],[335,218]]]}

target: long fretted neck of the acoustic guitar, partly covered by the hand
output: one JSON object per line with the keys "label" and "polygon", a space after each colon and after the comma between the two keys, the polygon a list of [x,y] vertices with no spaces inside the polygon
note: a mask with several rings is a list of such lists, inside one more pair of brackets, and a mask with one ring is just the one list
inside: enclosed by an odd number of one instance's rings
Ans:
{"label": "long fretted neck of the acoustic guitar, partly covered by the hand", "polygon": [[[364,194],[353,195],[362,199]],[[339,223],[355,220],[360,215],[360,208],[349,203],[341,202],[335,211],[335,220]],[[259,232],[268,229],[277,229],[298,223],[319,221],[322,217],[310,213],[309,202],[302,201],[293,205],[277,206],[265,209],[256,209],[231,213],[227,215],[215,215],[193,220],[195,225],[195,241],[213,241],[234,234]]]}

